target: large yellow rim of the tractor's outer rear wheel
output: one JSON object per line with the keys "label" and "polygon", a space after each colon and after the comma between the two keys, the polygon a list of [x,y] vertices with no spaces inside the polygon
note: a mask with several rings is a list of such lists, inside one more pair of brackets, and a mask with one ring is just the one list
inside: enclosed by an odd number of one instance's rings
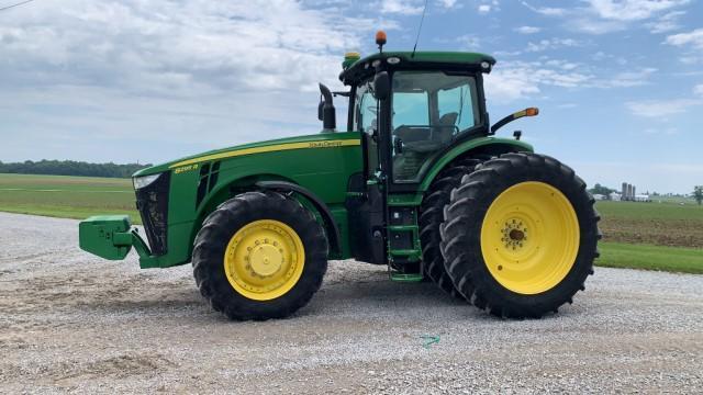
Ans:
{"label": "large yellow rim of the tractor's outer rear wheel", "polygon": [[522,182],[503,191],[486,213],[481,253],[495,281],[533,295],[567,276],[579,238],[579,221],[563,193],[544,182]]}

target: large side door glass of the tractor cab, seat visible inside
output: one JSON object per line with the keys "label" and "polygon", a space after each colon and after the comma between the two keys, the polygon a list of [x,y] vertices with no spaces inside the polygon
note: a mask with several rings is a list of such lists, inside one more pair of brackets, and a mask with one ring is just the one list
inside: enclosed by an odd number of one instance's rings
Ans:
{"label": "large side door glass of the tractor cab, seat visible inside", "polygon": [[397,71],[392,110],[393,181],[417,182],[436,154],[480,123],[476,79]]}

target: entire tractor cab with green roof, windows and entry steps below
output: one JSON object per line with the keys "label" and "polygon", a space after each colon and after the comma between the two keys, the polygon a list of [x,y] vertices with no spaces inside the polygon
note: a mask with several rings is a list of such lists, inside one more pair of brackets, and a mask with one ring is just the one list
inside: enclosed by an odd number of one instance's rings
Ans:
{"label": "entire tractor cab with green roof, windows and entry steps below", "polygon": [[[380,52],[371,56],[347,54],[339,75],[350,87],[343,93],[349,98],[347,133],[360,135],[365,158],[364,174],[350,183],[350,192],[362,198],[347,202],[352,248],[360,260],[388,263],[395,280],[420,280],[420,203],[431,181],[457,147],[481,142],[500,147],[500,139],[489,137],[482,79],[495,59],[478,53],[383,52],[384,36],[377,36],[377,44]],[[328,132],[334,111],[330,115],[331,94],[321,89],[319,115]],[[520,143],[510,140],[510,149]]]}

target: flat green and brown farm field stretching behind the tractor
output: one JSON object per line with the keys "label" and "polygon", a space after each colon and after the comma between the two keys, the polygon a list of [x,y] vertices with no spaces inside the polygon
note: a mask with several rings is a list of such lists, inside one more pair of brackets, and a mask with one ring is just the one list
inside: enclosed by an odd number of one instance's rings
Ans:
{"label": "flat green and brown farm field stretching behind the tractor", "polygon": [[[703,207],[677,202],[598,202],[604,238],[596,264],[703,273]],[[127,214],[134,223],[129,179],[0,174],[0,211],[82,219]]]}

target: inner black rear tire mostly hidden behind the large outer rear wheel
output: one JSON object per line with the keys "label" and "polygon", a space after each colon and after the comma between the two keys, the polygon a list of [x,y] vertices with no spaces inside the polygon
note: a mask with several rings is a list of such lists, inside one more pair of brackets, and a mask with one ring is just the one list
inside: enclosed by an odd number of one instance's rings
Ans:
{"label": "inner black rear tire mostly hidden behind the large outer rear wheel", "polygon": [[[486,159],[488,157],[483,160]],[[424,274],[442,291],[457,298],[464,298],[464,296],[454,286],[445,269],[444,258],[439,250],[442,242],[439,225],[444,221],[444,206],[449,204],[451,190],[459,187],[461,178],[471,173],[481,161],[480,159],[464,159],[447,166],[437,174],[425,192],[420,207],[419,225]]]}

